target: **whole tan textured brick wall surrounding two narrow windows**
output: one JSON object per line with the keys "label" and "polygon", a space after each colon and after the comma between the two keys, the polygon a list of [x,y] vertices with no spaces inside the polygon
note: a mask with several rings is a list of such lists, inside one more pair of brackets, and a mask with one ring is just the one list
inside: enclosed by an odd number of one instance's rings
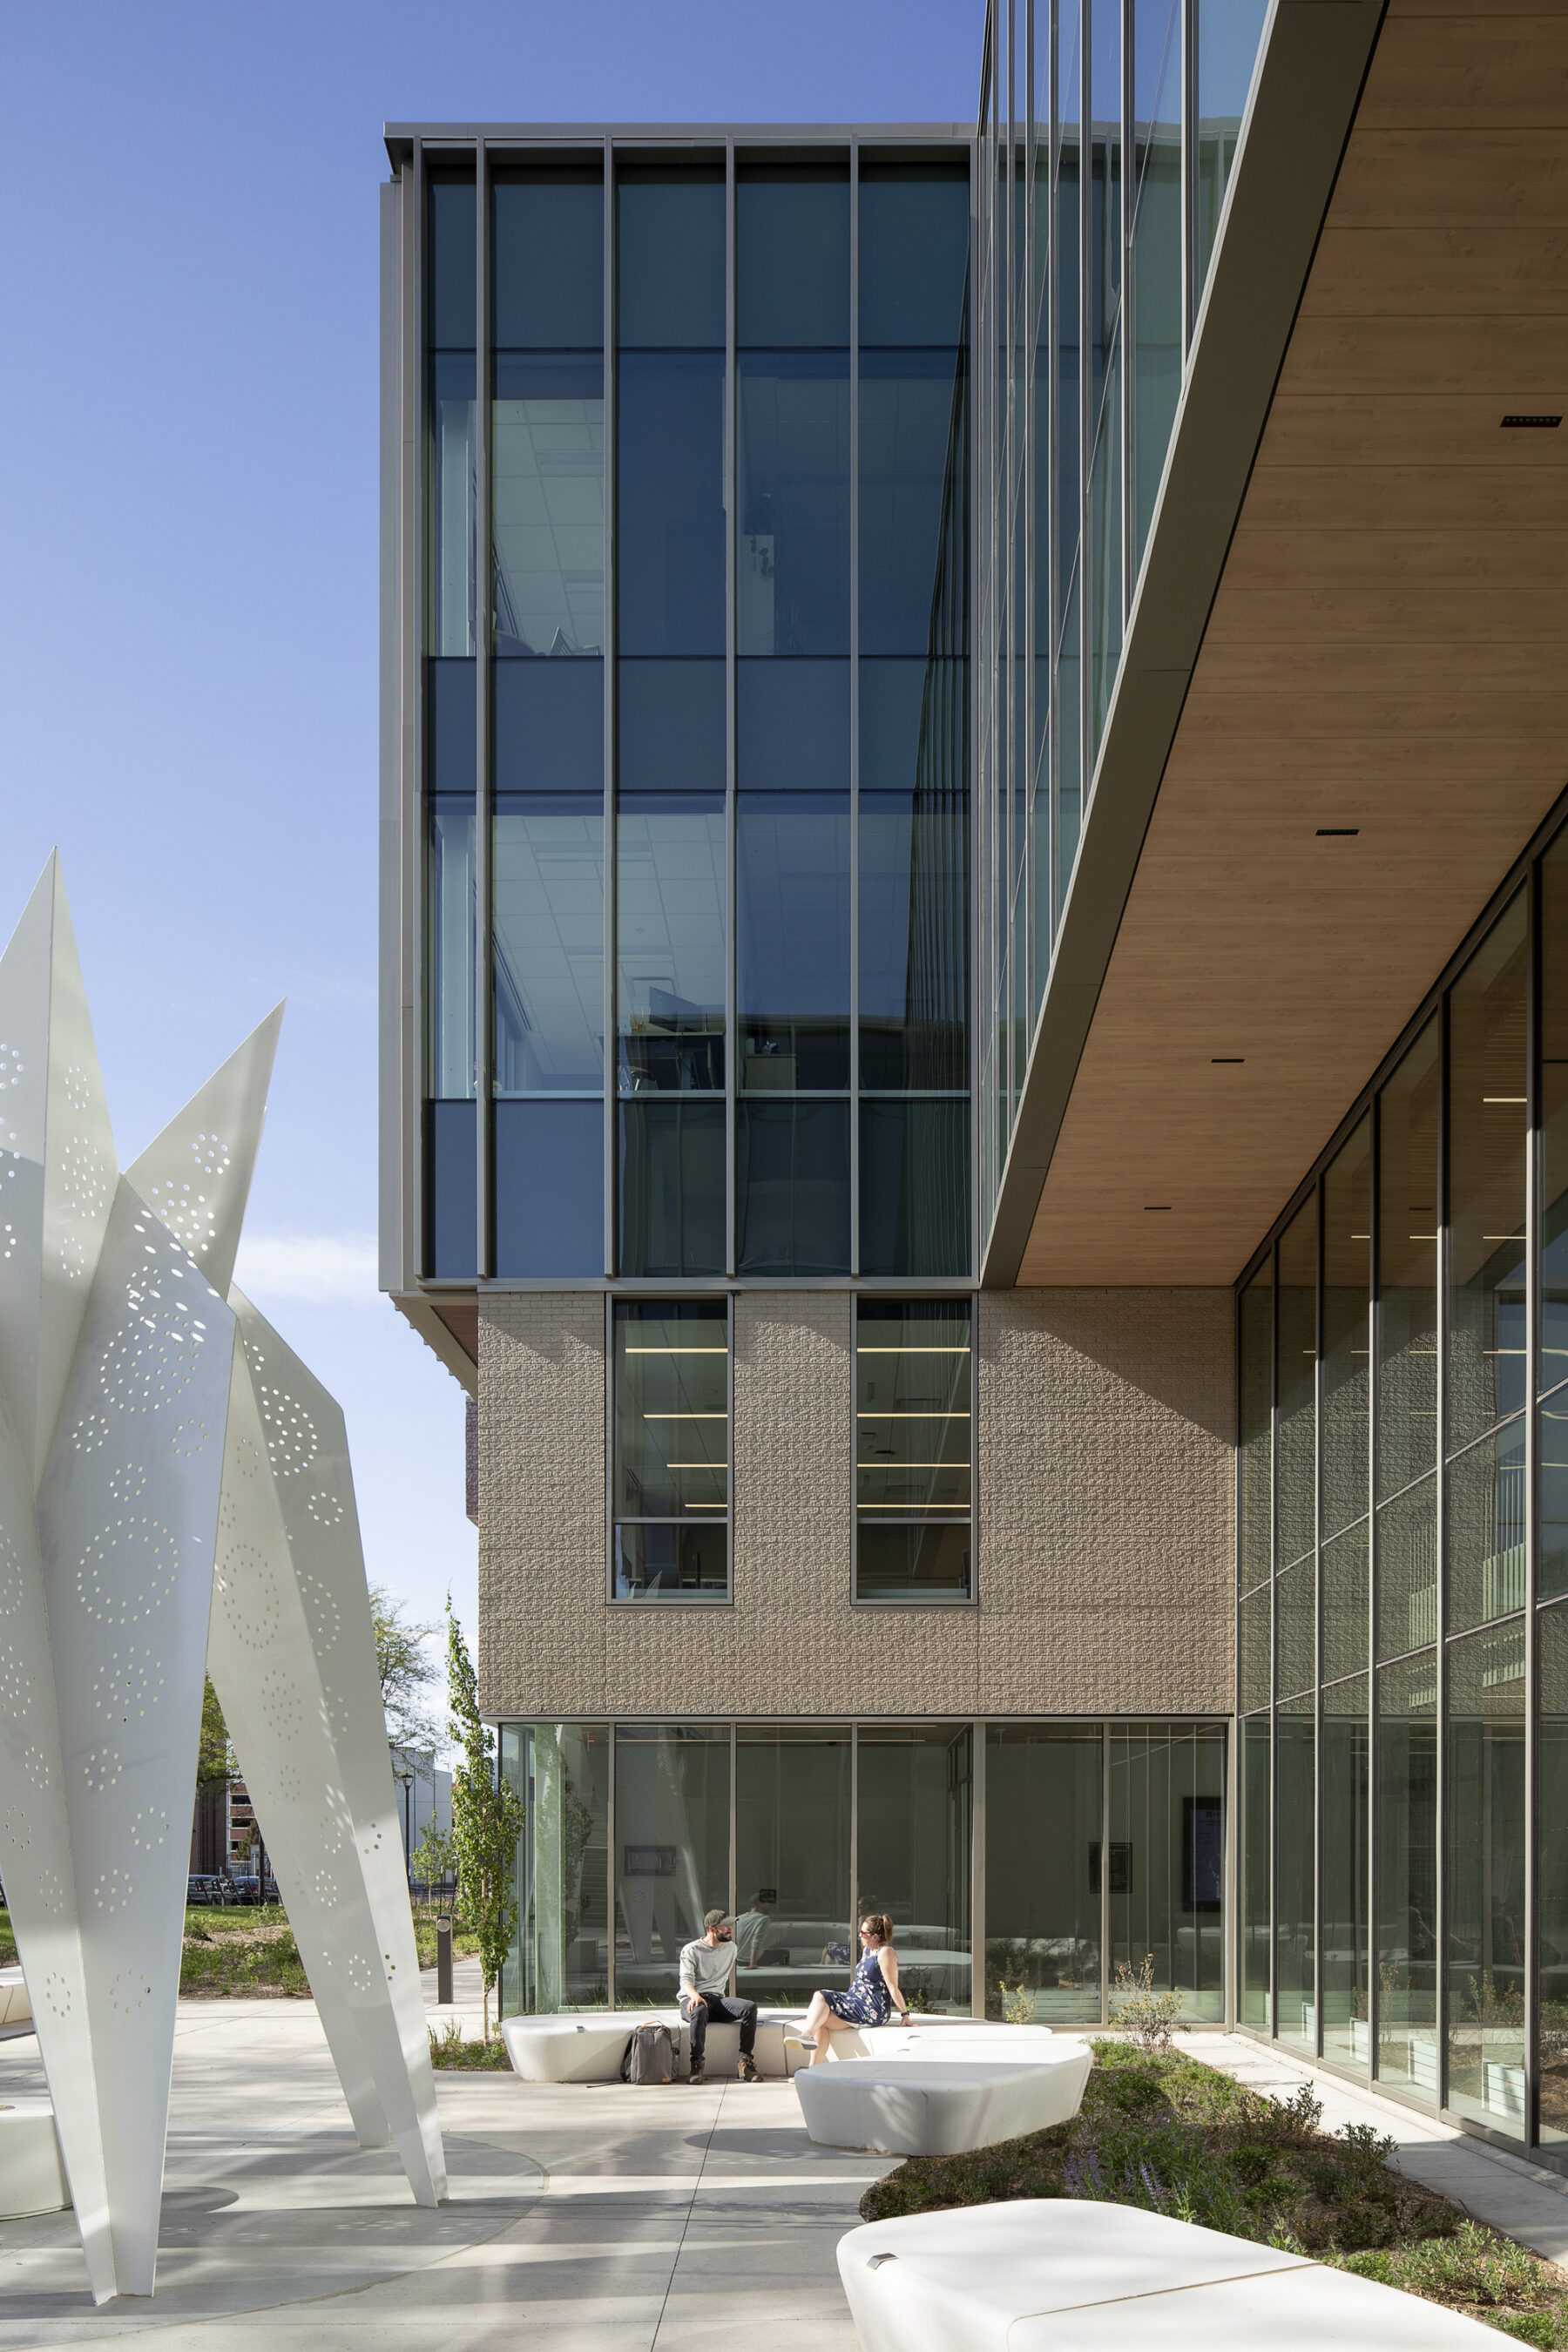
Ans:
{"label": "whole tan textured brick wall surrounding two narrow windows", "polygon": [[851,1609],[842,1291],[736,1298],[733,1609],[604,1599],[604,1305],[480,1317],[480,1686],[498,1715],[1227,1710],[1229,1291],[980,1301],[978,1609]]}

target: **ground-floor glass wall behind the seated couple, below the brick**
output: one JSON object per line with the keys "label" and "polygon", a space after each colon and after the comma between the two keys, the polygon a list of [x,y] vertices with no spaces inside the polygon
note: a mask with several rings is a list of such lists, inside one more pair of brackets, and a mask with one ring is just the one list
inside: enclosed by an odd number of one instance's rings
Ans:
{"label": "ground-floor glass wall behind the seated couple, below the brick", "polygon": [[1150,1955],[1218,2023],[1225,1743],[1218,1722],[503,1722],[527,1806],[503,2011],[668,2004],[722,1905],[764,2004],[846,1985],[853,1924],[884,1910],[914,2009],[1100,2023],[1117,1964]]}

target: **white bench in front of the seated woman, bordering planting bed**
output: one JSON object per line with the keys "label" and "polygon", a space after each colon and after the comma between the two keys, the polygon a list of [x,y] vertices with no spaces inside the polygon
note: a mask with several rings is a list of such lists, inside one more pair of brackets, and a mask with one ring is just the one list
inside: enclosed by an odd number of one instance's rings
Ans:
{"label": "white bench in front of the seated woman, bordering planting bed", "polygon": [[1093,2053],[1056,2042],[1023,2058],[839,2058],[802,2067],[795,2091],[818,2147],[872,2147],[884,2157],[954,2157],[1079,2112]]}

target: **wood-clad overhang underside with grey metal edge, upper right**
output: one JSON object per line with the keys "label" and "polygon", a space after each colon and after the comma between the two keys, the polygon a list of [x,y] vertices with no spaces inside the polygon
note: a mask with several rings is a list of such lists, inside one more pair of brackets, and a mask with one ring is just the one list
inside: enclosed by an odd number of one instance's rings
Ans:
{"label": "wood-clad overhang underside with grey metal edge, upper right", "polygon": [[1568,16],[1279,0],[987,1287],[1227,1284],[1568,783]]}

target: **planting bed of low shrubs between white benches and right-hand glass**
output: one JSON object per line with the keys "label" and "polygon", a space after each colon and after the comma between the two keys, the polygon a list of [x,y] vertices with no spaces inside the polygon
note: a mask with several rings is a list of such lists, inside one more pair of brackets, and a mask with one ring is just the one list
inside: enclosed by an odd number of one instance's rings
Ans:
{"label": "planting bed of low shrubs between white benches and right-hand glass", "polygon": [[1368,2124],[1319,2131],[1321,2105],[1260,2098],[1178,2051],[1095,2042],[1072,2124],[964,2157],[910,2157],[860,2199],[865,2220],[1088,2197],[1309,2253],[1483,2319],[1542,2352],[1568,2347],[1568,2281],[1387,2169]]}

